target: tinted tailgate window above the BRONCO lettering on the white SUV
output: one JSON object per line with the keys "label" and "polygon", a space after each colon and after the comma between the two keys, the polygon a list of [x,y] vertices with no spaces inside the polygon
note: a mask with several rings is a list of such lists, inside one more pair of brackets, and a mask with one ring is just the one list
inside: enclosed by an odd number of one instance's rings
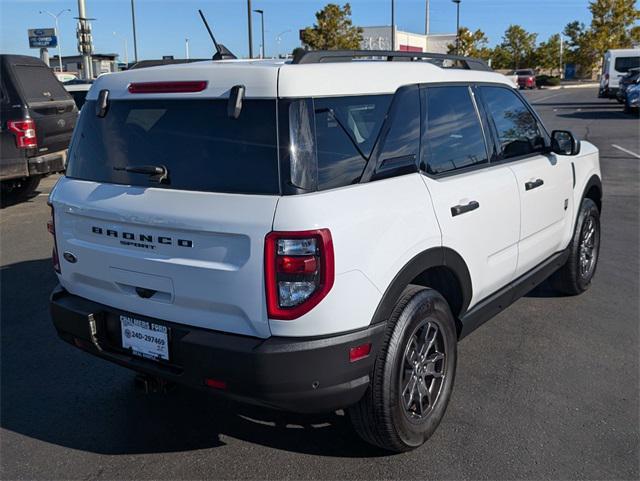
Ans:
{"label": "tinted tailgate window above the BRONCO lettering on the white SUV", "polygon": [[[114,100],[104,118],[96,101],[81,111],[67,176],[169,189],[278,194],[276,101],[243,102],[238,119],[227,100]],[[168,181],[126,172],[163,166]]]}

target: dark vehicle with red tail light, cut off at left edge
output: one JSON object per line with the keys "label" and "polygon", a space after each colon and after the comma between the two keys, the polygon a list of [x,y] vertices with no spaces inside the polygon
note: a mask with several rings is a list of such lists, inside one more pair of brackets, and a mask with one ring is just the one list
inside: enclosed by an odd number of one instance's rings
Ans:
{"label": "dark vehicle with red tail light, cut off at left edge", "polygon": [[27,197],[42,177],[64,171],[78,109],[35,57],[0,55],[0,84],[2,199]]}

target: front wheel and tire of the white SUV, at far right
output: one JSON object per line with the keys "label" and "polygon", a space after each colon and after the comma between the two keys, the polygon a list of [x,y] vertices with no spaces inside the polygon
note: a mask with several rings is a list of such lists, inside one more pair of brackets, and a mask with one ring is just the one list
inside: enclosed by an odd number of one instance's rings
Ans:
{"label": "front wheel and tire of the white SUV, at far right", "polygon": [[552,286],[577,295],[591,285],[600,257],[600,211],[591,199],[582,199],[567,262],[551,277]]}

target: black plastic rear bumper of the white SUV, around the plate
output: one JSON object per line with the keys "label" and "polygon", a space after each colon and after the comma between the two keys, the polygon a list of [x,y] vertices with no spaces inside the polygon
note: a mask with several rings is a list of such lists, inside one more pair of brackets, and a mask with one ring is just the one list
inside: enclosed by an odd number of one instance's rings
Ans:
{"label": "black plastic rear bumper of the white SUV, around the plate", "polygon": [[[80,349],[135,371],[208,389],[204,380],[226,384],[220,394],[292,412],[328,412],[355,404],[369,386],[385,325],[333,337],[258,339],[171,322],[140,319],[171,330],[170,363],[133,356],[121,348],[117,309],[69,294],[51,294],[51,317],[58,335]],[[92,336],[90,319],[96,326]],[[349,350],[372,344],[367,358],[349,362]]]}

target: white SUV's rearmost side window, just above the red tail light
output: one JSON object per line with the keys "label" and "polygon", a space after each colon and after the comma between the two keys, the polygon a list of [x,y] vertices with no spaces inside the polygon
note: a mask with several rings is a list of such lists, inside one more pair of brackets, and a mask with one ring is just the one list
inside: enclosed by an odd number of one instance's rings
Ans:
{"label": "white SUV's rearmost side window, just above the red tail light", "polygon": [[314,100],[318,189],[357,181],[371,156],[391,95]]}

